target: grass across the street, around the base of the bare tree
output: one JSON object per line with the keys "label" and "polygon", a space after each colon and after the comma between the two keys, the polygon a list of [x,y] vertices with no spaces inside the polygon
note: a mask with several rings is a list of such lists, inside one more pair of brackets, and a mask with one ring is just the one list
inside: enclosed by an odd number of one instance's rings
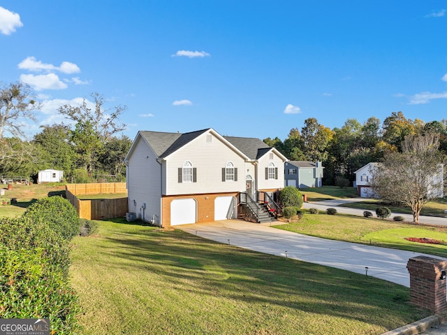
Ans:
{"label": "grass across the street, around the base of the bare tree", "polygon": [[[378,200],[367,200],[360,202],[352,202],[349,204],[343,204],[342,207],[349,208],[361,208],[367,211],[371,211],[372,213],[376,213],[376,208],[385,206],[390,208],[390,210],[394,213],[404,213],[411,214],[411,208],[404,206],[389,206],[387,204],[383,204]],[[443,218],[447,218],[447,214],[444,213],[444,210],[447,209],[447,200],[446,199],[437,199],[435,201],[429,201],[420,211],[420,215],[429,215],[429,216],[440,216]]]}

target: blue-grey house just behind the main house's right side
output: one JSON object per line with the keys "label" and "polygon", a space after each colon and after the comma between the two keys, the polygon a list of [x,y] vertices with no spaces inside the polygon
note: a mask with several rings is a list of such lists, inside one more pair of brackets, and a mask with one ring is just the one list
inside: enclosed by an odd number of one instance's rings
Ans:
{"label": "blue-grey house just behind the main house's right side", "polygon": [[321,187],[323,185],[323,165],[321,162],[285,162],[284,179],[285,186],[298,188]]}

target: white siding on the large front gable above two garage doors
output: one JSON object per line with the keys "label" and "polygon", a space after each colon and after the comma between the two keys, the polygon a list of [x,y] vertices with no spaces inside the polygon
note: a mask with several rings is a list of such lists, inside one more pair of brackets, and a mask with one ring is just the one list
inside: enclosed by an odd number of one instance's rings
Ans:
{"label": "white siding on the large front gable above two garage doors", "polygon": [[[204,133],[186,143],[182,148],[166,157],[166,195],[203,194],[219,192],[244,192],[244,178],[231,183],[222,183],[222,169],[231,162],[234,171],[245,171],[245,161],[237,152],[216,136]],[[192,158],[191,158],[192,157]],[[190,161],[196,169],[196,183],[178,183],[177,169]],[[235,178],[236,179],[236,178]]]}

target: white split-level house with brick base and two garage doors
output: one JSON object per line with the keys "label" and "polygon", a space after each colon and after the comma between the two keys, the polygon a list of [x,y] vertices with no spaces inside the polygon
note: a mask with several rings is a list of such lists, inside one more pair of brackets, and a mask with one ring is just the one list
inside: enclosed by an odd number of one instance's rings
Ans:
{"label": "white split-level house with brick base and two garage doors", "polygon": [[241,194],[255,199],[284,187],[286,160],[258,138],[212,128],[138,131],[125,159],[129,212],[163,227],[237,218]]}

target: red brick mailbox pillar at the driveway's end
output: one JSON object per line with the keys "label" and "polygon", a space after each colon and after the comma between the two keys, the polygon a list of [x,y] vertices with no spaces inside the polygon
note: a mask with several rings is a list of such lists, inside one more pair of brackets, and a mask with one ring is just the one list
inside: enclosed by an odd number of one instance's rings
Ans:
{"label": "red brick mailbox pillar at the driveway's end", "polygon": [[447,311],[447,262],[442,259],[418,256],[406,264],[410,273],[410,302],[430,309],[433,313]]}

